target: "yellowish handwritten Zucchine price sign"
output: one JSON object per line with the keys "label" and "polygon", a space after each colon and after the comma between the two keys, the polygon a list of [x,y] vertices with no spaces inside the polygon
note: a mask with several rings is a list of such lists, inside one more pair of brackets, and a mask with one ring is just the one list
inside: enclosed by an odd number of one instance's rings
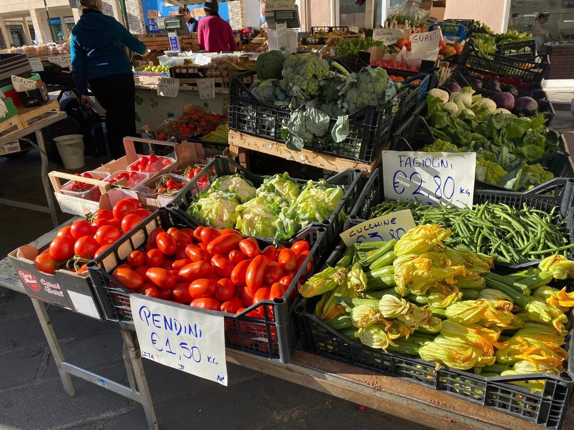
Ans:
{"label": "yellowish handwritten Zucchine price sign", "polygon": [[399,240],[415,226],[413,213],[410,209],[405,209],[361,222],[345,230],[340,236],[345,245],[350,247],[356,243]]}

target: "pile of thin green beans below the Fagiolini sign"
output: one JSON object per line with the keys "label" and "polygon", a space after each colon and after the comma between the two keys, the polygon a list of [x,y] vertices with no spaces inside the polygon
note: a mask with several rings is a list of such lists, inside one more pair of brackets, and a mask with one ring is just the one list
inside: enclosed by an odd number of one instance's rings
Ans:
{"label": "pile of thin green beans below the Fagiolini sign", "polygon": [[374,206],[371,218],[403,209],[412,211],[417,224],[439,224],[451,230],[452,236],[444,241],[448,247],[492,255],[499,263],[524,264],[557,253],[568,256],[574,248],[556,207],[545,212],[486,202],[461,209],[399,200]]}

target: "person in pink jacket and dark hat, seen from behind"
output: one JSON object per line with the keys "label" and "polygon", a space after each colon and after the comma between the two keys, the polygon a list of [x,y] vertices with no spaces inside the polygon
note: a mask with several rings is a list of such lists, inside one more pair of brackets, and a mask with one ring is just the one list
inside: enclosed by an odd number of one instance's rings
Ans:
{"label": "person in pink jacket and dark hat, seen from behind", "polygon": [[231,26],[219,16],[217,0],[207,0],[203,5],[205,18],[197,26],[197,43],[207,52],[236,51],[237,44]]}

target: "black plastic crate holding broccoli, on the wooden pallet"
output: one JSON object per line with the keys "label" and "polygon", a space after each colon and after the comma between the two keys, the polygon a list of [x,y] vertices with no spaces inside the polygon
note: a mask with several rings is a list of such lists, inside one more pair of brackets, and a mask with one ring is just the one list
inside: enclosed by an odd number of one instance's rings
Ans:
{"label": "black plastic crate holding broccoli, on the wooden pallet", "polygon": [[[236,73],[230,77],[230,101],[228,106],[228,127],[256,135],[260,138],[285,142],[281,128],[286,126],[291,111],[272,104],[262,103],[249,91],[255,72]],[[249,81],[249,84],[247,83]],[[403,93],[398,94],[399,99]],[[343,142],[331,138],[336,118],[324,136],[315,136],[305,147],[339,157],[370,163],[374,161],[382,147],[389,142],[393,120],[393,103],[388,101],[382,106],[366,106],[349,115],[349,135]]]}

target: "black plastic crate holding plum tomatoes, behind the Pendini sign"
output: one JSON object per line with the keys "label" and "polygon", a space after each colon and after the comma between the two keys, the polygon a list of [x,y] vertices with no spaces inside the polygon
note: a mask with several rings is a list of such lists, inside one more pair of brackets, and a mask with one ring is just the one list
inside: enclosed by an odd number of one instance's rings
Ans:
{"label": "black plastic crate holding plum tomatoes, behind the Pendini sign", "polygon": [[[183,228],[187,227],[188,224],[181,220],[177,214],[171,213],[165,208],[160,208],[135,226],[135,228],[123,234],[106,251],[88,263],[88,272],[94,283],[94,290],[106,319],[133,323],[130,295],[137,293],[131,292],[119,284],[111,276],[111,272],[119,264],[125,263],[130,252],[145,248],[149,233],[154,228],[162,227],[167,230],[173,226]],[[282,363],[289,363],[297,340],[296,327],[294,327],[294,322],[292,321],[296,302],[294,298],[298,294],[297,282],[303,277],[307,278],[310,273],[320,267],[322,261],[319,256],[328,252],[322,240],[324,234],[324,227],[310,227],[305,229],[304,232],[298,233],[289,241],[289,243],[294,243],[297,240],[307,240],[311,245],[311,252],[293,277],[293,282],[290,284],[284,298],[262,300],[262,302],[254,304],[240,314],[235,315],[200,308],[192,309],[196,312],[223,316],[226,347],[260,355]],[[259,242],[259,245],[264,247],[267,243]],[[307,273],[309,262],[311,262],[312,271]],[[174,304],[174,306],[181,305]],[[247,314],[255,310],[263,310],[264,318],[259,319],[247,316]]]}

